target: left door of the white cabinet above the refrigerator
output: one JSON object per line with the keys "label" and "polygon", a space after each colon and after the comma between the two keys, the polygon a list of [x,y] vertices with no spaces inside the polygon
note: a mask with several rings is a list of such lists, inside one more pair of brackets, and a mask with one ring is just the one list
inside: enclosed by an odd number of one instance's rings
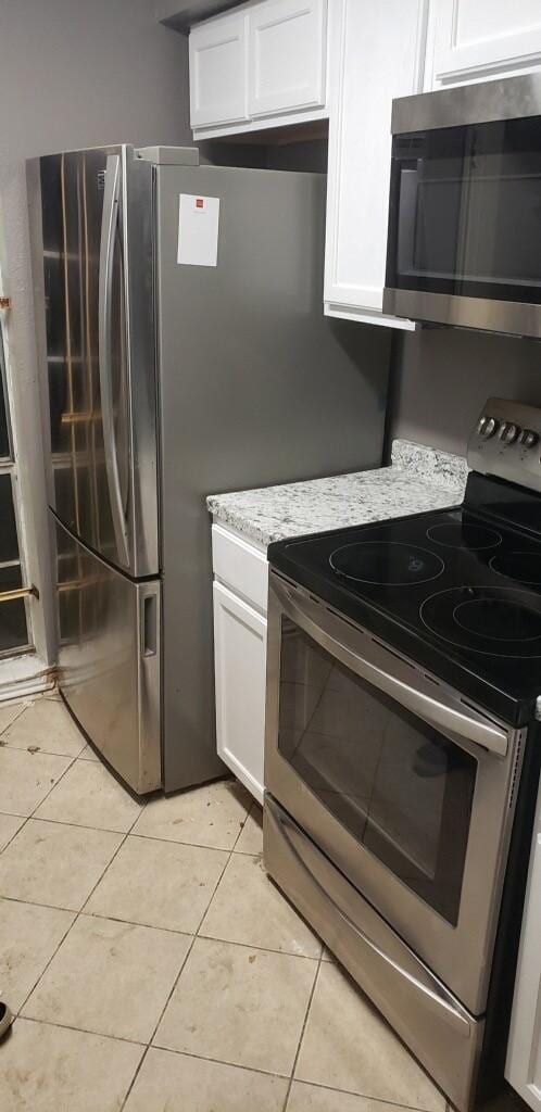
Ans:
{"label": "left door of the white cabinet above the refrigerator", "polygon": [[193,128],[247,120],[247,16],[226,14],[189,34]]}

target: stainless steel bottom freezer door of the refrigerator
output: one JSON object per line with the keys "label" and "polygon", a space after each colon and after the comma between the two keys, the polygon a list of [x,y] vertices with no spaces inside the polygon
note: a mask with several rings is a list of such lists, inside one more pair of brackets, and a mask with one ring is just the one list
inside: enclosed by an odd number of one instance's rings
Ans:
{"label": "stainless steel bottom freezer door of the refrigerator", "polygon": [[138,794],[161,784],[160,583],[132,583],[53,518],[59,686],[79,725]]}

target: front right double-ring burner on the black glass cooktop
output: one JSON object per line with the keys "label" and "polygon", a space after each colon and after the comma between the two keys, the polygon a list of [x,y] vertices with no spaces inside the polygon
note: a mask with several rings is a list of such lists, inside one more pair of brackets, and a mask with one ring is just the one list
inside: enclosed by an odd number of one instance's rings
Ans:
{"label": "front right double-ring burner on the black glass cooktop", "polygon": [[541,596],[513,587],[450,587],[424,600],[432,633],[470,653],[541,657]]}

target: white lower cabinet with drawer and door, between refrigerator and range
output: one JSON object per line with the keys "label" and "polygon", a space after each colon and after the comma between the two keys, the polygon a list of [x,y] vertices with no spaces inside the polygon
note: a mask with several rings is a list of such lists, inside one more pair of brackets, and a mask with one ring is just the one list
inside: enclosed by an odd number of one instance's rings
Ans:
{"label": "white lower cabinet with drawer and door, between refrigerator and range", "polygon": [[[213,526],[213,559],[218,754],[263,803],[267,618],[262,582],[268,578],[268,564],[257,548],[219,526]],[[224,575],[229,585],[220,582]],[[252,598],[240,592],[250,592]]]}

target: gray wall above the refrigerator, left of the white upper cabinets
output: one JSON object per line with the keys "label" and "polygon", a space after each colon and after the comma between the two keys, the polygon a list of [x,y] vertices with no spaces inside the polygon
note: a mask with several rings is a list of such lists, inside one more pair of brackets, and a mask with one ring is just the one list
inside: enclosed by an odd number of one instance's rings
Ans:
{"label": "gray wall above the refrigerator, left of the white upper cabinets", "polygon": [[187,40],[150,0],[1,0],[0,162],[189,139]]}

